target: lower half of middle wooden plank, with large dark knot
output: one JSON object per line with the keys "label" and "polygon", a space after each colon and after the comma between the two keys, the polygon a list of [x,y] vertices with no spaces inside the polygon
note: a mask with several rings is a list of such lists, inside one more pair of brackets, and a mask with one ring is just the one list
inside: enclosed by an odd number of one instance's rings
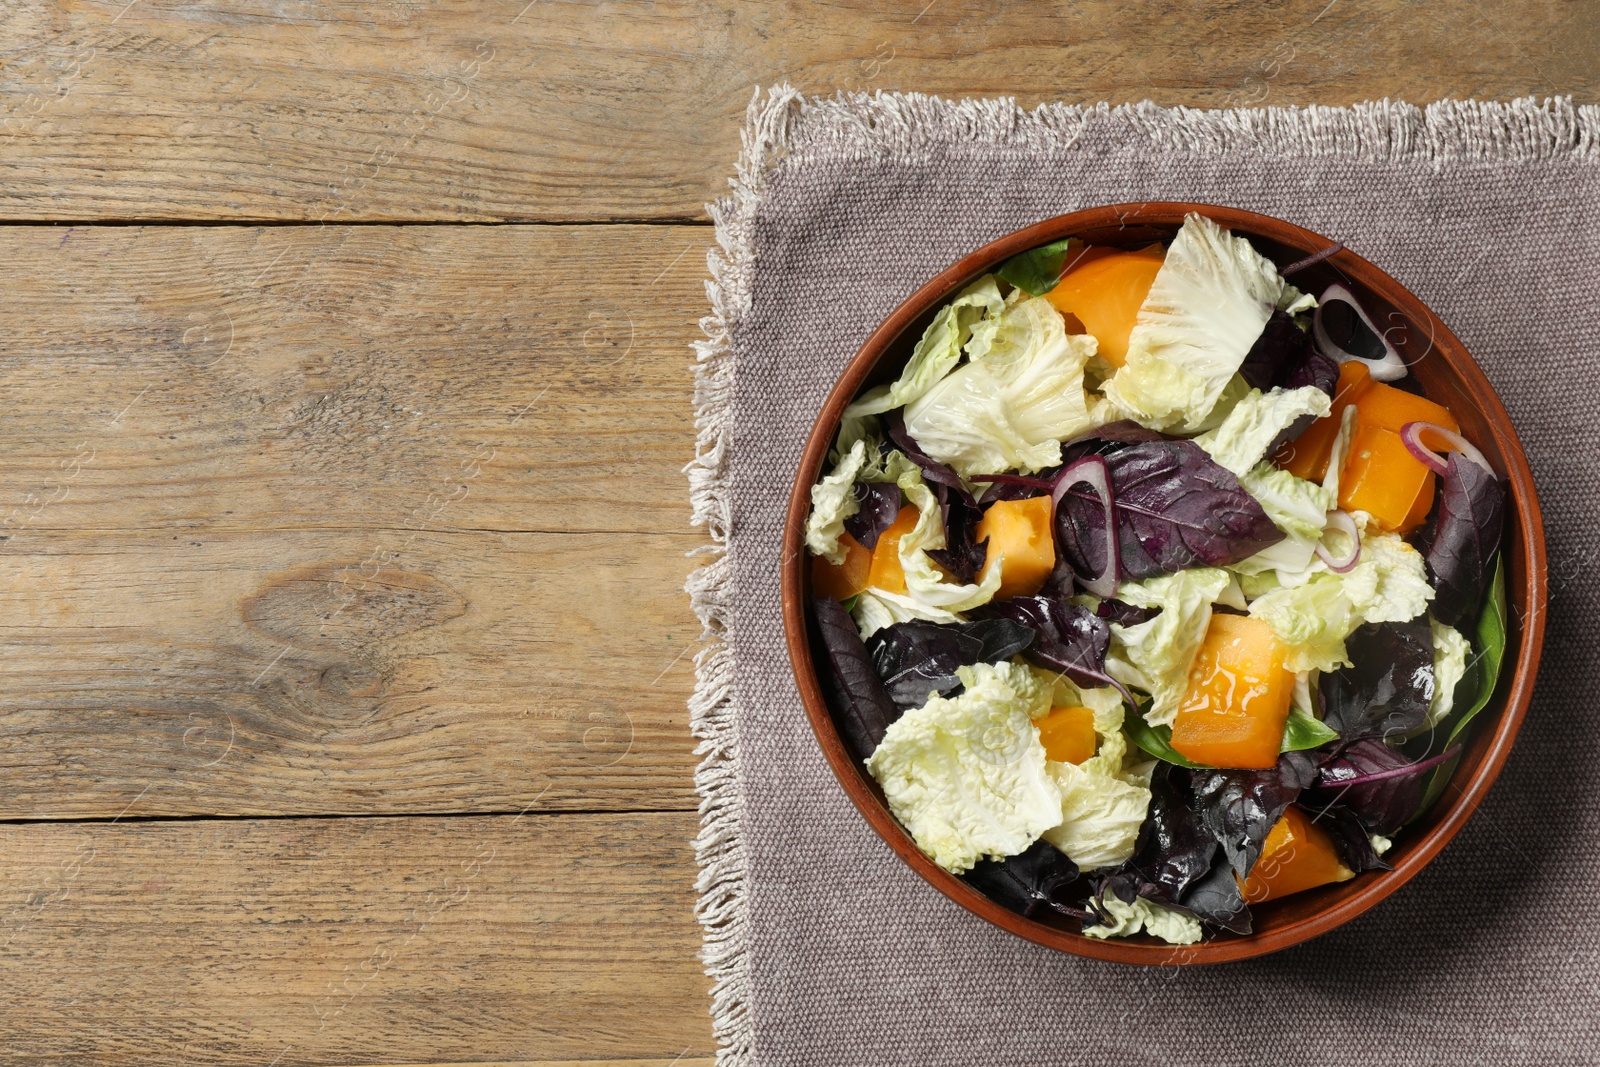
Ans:
{"label": "lower half of middle wooden plank, with large dark knot", "polygon": [[35,531],[0,817],[693,808],[694,544]]}

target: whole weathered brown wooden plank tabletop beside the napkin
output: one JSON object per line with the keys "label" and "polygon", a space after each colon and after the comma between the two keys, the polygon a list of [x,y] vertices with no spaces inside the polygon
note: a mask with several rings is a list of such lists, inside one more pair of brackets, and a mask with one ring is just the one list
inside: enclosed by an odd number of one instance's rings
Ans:
{"label": "whole weathered brown wooden plank tabletop beside the napkin", "polygon": [[6,0],[0,1062],[710,1062],[680,469],[754,83],[1600,91],[1578,2],[870,6]]}

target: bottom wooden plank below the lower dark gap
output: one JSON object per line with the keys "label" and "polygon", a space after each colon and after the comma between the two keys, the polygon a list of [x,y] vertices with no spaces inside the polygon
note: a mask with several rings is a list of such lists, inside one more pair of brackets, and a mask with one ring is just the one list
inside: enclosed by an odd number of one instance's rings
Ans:
{"label": "bottom wooden plank below the lower dark gap", "polygon": [[710,1056],[693,814],[0,827],[5,1062]]}

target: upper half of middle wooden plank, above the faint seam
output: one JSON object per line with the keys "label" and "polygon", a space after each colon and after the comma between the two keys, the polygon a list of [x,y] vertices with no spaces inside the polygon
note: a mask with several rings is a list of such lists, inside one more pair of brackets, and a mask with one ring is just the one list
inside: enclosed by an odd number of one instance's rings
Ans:
{"label": "upper half of middle wooden plank, above the faint seam", "polygon": [[709,227],[0,227],[0,534],[682,533]]}

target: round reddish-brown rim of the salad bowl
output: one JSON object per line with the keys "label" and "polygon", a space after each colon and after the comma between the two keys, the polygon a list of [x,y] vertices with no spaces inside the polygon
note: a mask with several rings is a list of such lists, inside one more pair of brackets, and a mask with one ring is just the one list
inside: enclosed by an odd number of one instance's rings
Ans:
{"label": "round reddish-brown rim of the salad bowl", "polygon": [[[1363,888],[1357,889],[1350,896],[1315,913],[1259,934],[1205,939],[1194,945],[1149,944],[1144,941],[1115,937],[1104,941],[1086,937],[1078,933],[1037,923],[990,901],[987,896],[981,894],[955,875],[946,872],[926,854],[923,854],[922,849],[918,849],[912,841],[910,835],[899,825],[899,822],[890,814],[888,808],[878,801],[872,789],[867,785],[864,768],[859,768],[851,758],[851,753],[846,750],[822,697],[816,667],[811,659],[806,627],[808,584],[805,581],[805,574],[808,569],[808,553],[805,549],[803,531],[806,515],[810,514],[811,485],[819,477],[822,462],[832,446],[840,413],[845,405],[856,397],[878,362],[893,349],[894,342],[917,318],[931,312],[936,306],[954,296],[957,290],[968,285],[971,280],[994,270],[1010,256],[1029,248],[1037,248],[1051,240],[1075,235],[1085,230],[1114,226],[1181,224],[1184,216],[1189,213],[1205,214],[1229,230],[1304,250],[1306,254],[1322,251],[1334,243],[1333,240],[1293,222],[1242,208],[1194,202],[1141,202],[1094,206],[1067,214],[1058,214],[1019,230],[1013,230],[994,242],[986,243],[982,248],[968,253],[906,298],[906,301],[902,301],[899,307],[896,307],[862,342],[856,355],[838,376],[834,389],[829,392],[827,400],[811,427],[811,434],[806,440],[805,451],[802,453],[802,459],[795,472],[795,482],[789,494],[789,510],[784,522],[781,571],[786,645],[806,718],[810,720],[811,729],[816,734],[824,757],[827,758],[829,768],[834,771],[834,776],[838,779],[845,793],[874,832],[933,888],[950,901],[960,904],[968,912],[973,912],[979,918],[984,918],[1002,929],[1006,929],[1019,937],[1026,937],[1035,944],[1080,957],[1112,960],[1117,963],[1162,966],[1222,963],[1278,952],[1317,937],[1318,934],[1328,933],[1374,907],[1416,877],[1416,873],[1421,872],[1422,867],[1426,867],[1445,848],[1445,845],[1450,843],[1461,827],[1466,825],[1467,819],[1477,811],[1490,787],[1494,784],[1494,779],[1499,776],[1501,768],[1510,753],[1512,742],[1517,737],[1517,731],[1522,726],[1528,704],[1533,697],[1534,677],[1538,673],[1539,656],[1544,645],[1546,606],[1549,598],[1544,520],[1533,482],[1533,472],[1528,467],[1528,459],[1523,453],[1522,442],[1517,437],[1515,426],[1501,403],[1499,395],[1494,392],[1494,387],[1467,352],[1466,346],[1461,344],[1461,341],[1448,330],[1448,326],[1445,326],[1432,309],[1429,309],[1406,286],[1381,270],[1376,264],[1371,264],[1349,248],[1342,248],[1328,259],[1333,269],[1354,280],[1362,290],[1379,294],[1390,306],[1398,309],[1411,323],[1416,323],[1418,326],[1426,325],[1432,330],[1434,347],[1438,349],[1440,357],[1450,363],[1451,370],[1459,376],[1462,387],[1470,394],[1474,403],[1480,405],[1490,432],[1494,435],[1499,453],[1506,461],[1504,475],[1510,486],[1510,528],[1506,541],[1502,542],[1502,552],[1509,552],[1512,542],[1518,541],[1525,558],[1525,573],[1520,585],[1514,590],[1510,584],[1507,584],[1509,614],[1515,614],[1515,606],[1518,603],[1526,605],[1526,609],[1522,617],[1515,619],[1515,622],[1509,625],[1509,629],[1517,632],[1518,653],[1515,667],[1509,672],[1509,685],[1507,672],[1504,667],[1501,670],[1498,689],[1502,689],[1506,696],[1502,701],[1491,699],[1490,707],[1480,713],[1482,717],[1498,710],[1494,729],[1493,733],[1486,733],[1485,726],[1488,723],[1480,723],[1477,737],[1469,739],[1467,752],[1470,753],[1472,749],[1483,744],[1488,747],[1475,769],[1472,769],[1470,776],[1464,782],[1459,776],[1466,768],[1458,769],[1458,777],[1451,781],[1445,797],[1438,800],[1438,806],[1445,806],[1446,813],[1426,835],[1414,838],[1408,845],[1406,854],[1400,857],[1392,870],[1373,872],[1376,877],[1371,877]],[[1509,581],[1510,577],[1507,577],[1507,582]],[[1498,709],[1496,704],[1499,704]],[[1453,798],[1451,793],[1454,793]],[[1368,875],[1363,875],[1363,878],[1366,877]]]}

